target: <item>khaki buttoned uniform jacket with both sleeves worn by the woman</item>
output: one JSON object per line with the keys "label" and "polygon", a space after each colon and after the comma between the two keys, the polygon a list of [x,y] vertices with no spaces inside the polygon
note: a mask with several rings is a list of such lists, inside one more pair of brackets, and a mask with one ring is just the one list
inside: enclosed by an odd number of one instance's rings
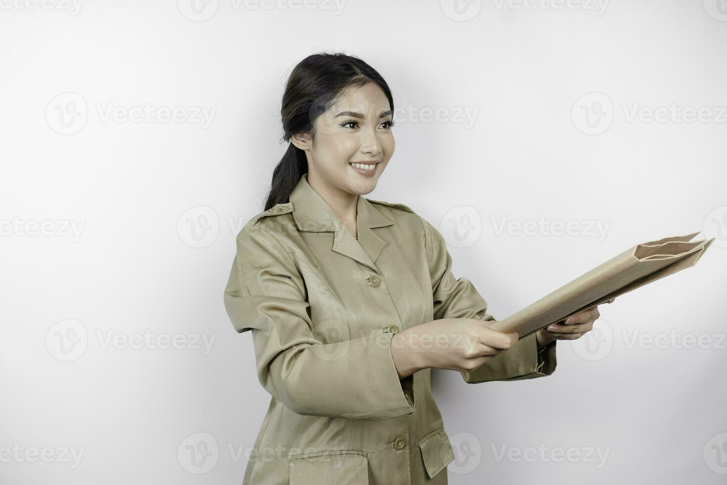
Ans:
{"label": "khaki buttoned uniform jacket with both sleeves worn by the woman", "polygon": [[[357,204],[358,241],[306,174],[237,236],[225,308],[237,332],[252,330],[272,396],[244,485],[447,483],[454,453],[431,369],[400,380],[390,340],[438,318],[494,318],[452,274],[433,225],[403,204]],[[555,366],[555,342],[538,353],[531,334],[478,375],[530,379]]]}

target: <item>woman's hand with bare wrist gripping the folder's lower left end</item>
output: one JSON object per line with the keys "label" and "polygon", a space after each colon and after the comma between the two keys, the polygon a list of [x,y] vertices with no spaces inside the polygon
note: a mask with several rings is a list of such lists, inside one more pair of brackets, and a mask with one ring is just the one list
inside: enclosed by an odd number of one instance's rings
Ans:
{"label": "woman's hand with bare wrist gripping the folder's lower left end", "polygon": [[427,367],[470,372],[518,342],[517,332],[497,332],[495,321],[442,318],[404,329],[391,339],[391,355],[403,378]]}

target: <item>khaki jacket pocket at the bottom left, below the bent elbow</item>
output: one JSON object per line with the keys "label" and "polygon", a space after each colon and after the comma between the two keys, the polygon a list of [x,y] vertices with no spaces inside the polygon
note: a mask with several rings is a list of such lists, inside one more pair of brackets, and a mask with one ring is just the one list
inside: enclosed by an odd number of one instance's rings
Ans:
{"label": "khaki jacket pocket at the bottom left, below the bent elbow", "polygon": [[369,485],[369,454],[349,449],[292,454],[290,485]]}

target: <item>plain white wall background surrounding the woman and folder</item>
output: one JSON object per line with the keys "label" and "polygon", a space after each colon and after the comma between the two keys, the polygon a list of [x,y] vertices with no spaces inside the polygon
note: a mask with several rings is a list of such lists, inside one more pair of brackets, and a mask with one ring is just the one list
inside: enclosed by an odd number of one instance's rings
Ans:
{"label": "plain white wall background surrounding the woman and folder", "polygon": [[435,369],[450,483],[724,483],[720,1],[0,0],[0,482],[241,483],[270,396],[222,305],[234,239],[286,148],[289,71],[343,51],[395,98],[368,197],[438,225],[496,318],[640,242],[716,238],[558,342],[550,377]]}

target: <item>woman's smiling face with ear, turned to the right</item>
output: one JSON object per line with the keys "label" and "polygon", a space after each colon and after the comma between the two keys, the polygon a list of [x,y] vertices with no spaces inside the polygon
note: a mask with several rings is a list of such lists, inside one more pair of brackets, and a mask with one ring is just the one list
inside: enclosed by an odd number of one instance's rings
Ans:
{"label": "woman's smiling face with ear, turned to the right", "polygon": [[392,117],[389,100],[377,84],[342,92],[314,121],[315,145],[295,143],[308,153],[308,179],[351,194],[373,191],[394,153]]}

